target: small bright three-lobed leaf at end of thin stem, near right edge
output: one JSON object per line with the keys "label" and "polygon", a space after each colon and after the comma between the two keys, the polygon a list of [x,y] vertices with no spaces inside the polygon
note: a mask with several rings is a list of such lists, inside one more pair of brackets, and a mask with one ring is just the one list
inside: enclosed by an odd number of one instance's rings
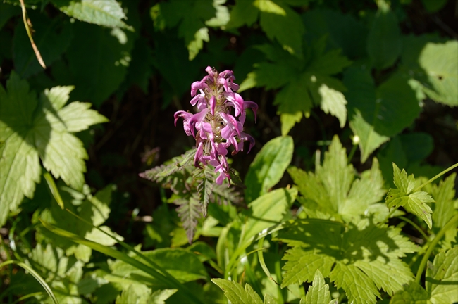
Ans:
{"label": "small bright three-lobed leaf at end of thin stem, near right edge", "polygon": [[395,163],[393,167],[393,182],[397,189],[390,189],[386,196],[385,202],[388,208],[404,206],[412,213],[421,217],[429,229],[431,229],[433,222],[431,220],[431,210],[427,203],[434,203],[434,199],[428,192],[415,191],[416,186],[419,186],[419,181],[416,181],[414,175],[407,176],[407,172]]}

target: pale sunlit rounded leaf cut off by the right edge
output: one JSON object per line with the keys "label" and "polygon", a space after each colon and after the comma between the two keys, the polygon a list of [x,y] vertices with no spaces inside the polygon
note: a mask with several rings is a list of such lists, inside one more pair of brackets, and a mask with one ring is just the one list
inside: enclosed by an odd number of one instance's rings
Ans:
{"label": "pale sunlit rounded leaf cut off by the right edge", "polygon": [[445,44],[426,44],[419,57],[419,64],[428,77],[423,91],[447,106],[458,106],[457,53],[458,42],[452,40]]}

